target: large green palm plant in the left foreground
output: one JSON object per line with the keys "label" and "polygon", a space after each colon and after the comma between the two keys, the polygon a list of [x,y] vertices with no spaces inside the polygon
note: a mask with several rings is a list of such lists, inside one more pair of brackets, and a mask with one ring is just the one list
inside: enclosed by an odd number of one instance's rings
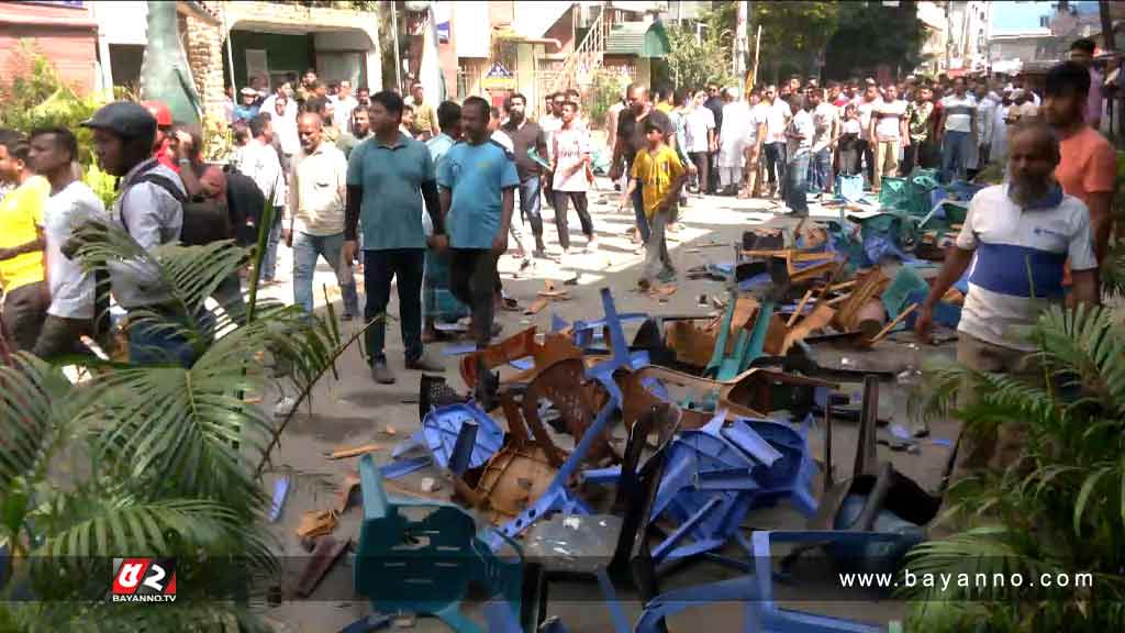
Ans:
{"label": "large green palm plant in the left foreground", "polygon": [[[231,242],[145,252],[104,221],[75,229],[75,241],[91,269],[152,262],[172,312],[200,316],[136,322],[177,332],[198,355],[190,367],[62,360],[93,369],[78,384],[34,356],[0,364],[0,631],[264,633],[263,580],[280,570],[261,476],[278,470],[267,465],[289,418],[277,424],[249,403],[271,382],[259,354],[290,368],[299,404],[354,338],[342,344],[333,322],[256,301],[256,276],[245,322],[206,309],[249,258]],[[108,562],[129,555],[177,560],[176,604],[91,599],[106,592]],[[36,601],[12,600],[24,594]]]}

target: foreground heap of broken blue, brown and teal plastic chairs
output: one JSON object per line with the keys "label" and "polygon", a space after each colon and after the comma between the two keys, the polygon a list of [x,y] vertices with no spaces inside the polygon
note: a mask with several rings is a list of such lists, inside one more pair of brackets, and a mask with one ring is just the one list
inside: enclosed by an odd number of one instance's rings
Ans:
{"label": "foreground heap of broken blue, brown and teal plastic chairs", "polygon": [[[830,276],[822,282],[831,292]],[[619,315],[610,292],[601,296],[602,320],[556,319],[541,338],[532,328],[465,355],[460,374],[471,394],[423,378],[422,429],[396,449],[396,462],[360,461],[357,591],[377,612],[435,615],[459,632],[479,630],[460,612],[470,586],[490,598],[489,631],[565,631],[547,617],[549,588],[576,576],[596,580],[622,633],[666,631],[667,615],[720,600],[745,603],[746,631],[878,630],[778,608],[768,555],[774,543],[798,541],[893,560],[921,538],[936,500],[874,464],[878,382],[865,391],[862,463],[842,484],[831,481],[827,429],[818,501],[807,436],[814,419],[831,425],[842,396],[830,381],[771,367],[801,327],[790,328],[776,296],[732,293],[709,355],[700,354],[705,328],[696,318]],[[622,329],[629,321],[641,321],[631,346]],[[556,444],[561,435],[573,438],[569,451]],[[407,456],[413,448],[425,453],[421,462]],[[448,471],[456,502],[387,497],[388,473],[428,460]],[[778,502],[804,515],[810,531],[748,538],[750,512]],[[749,573],[662,594],[677,563],[701,558]],[[618,603],[623,586],[645,605],[636,623]]]}

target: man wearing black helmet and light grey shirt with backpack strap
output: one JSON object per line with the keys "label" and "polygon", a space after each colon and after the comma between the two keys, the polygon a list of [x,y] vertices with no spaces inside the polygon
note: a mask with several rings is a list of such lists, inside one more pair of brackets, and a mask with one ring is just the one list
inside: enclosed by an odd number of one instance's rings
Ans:
{"label": "man wearing black helmet and light grey shirt with backpack strap", "polygon": [[[156,119],[143,106],[115,101],[82,123],[93,132],[94,155],[102,171],[120,178],[120,194],[110,207],[110,219],[128,231],[145,250],[179,240],[187,193],[174,171],[152,158]],[[151,262],[118,260],[108,265],[114,296],[130,316],[141,311],[177,314],[172,296]],[[191,347],[166,329],[136,323],[129,328],[129,362],[150,364],[173,360],[188,366]]]}

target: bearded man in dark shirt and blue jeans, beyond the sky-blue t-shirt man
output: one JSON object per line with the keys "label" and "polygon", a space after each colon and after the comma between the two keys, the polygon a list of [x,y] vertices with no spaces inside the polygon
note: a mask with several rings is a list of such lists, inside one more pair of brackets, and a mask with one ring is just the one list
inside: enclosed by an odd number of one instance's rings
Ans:
{"label": "bearded man in dark shirt and blue jeans, beyond the sky-blue t-shirt man", "polygon": [[524,110],[528,99],[516,92],[504,101],[507,112],[507,123],[501,131],[512,140],[512,153],[515,155],[515,171],[520,175],[520,215],[531,223],[531,232],[536,235],[534,257],[546,257],[543,248],[543,219],[539,213],[540,189],[543,178],[542,166],[532,158],[534,150],[539,160],[547,160],[547,136],[539,124],[528,121]]}

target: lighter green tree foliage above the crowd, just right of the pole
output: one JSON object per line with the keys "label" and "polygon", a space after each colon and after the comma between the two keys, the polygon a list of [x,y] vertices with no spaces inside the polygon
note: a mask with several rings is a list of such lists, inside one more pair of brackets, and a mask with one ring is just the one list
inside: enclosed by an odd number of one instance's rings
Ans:
{"label": "lighter green tree foliage above the crowd, just right of the pole", "polygon": [[839,21],[840,6],[790,0],[755,2],[750,24],[755,32],[762,27],[762,68],[770,70],[759,73],[759,80],[777,81],[782,71],[802,74],[819,71],[819,60]]}

